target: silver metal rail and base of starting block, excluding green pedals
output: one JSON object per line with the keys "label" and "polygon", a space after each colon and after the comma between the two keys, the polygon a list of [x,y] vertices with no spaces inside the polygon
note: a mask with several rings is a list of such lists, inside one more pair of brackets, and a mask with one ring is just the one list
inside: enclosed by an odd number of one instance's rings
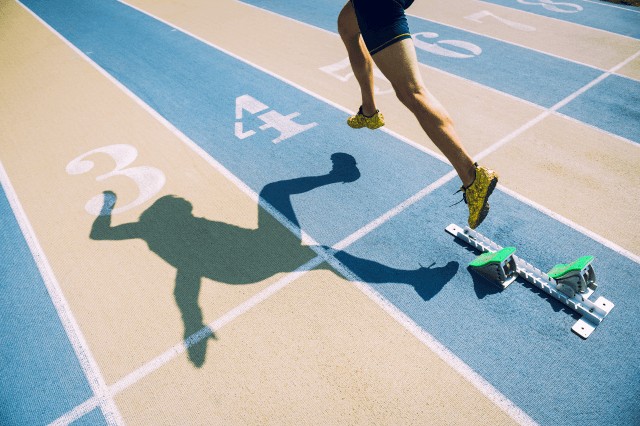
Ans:
{"label": "silver metal rail and base of starting block, excluding green pedals", "polygon": [[[449,234],[483,253],[502,250],[500,245],[468,227],[461,228],[452,223],[447,226],[445,230]],[[590,285],[584,293],[575,293],[570,297],[559,289],[557,281],[554,278],[551,278],[547,273],[542,272],[540,269],[515,255],[512,255],[512,257],[515,261],[516,270],[520,277],[582,315],[582,318],[574,324],[571,330],[583,339],[586,339],[591,335],[591,333],[593,333],[596,327],[615,306],[613,302],[605,299],[604,297],[599,297],[595,301],[589,299],[595,290],[595,285]],[[511,281],[509,284],[510,283]],[[506,288],[504,285],[501,285],[501,287]]]}

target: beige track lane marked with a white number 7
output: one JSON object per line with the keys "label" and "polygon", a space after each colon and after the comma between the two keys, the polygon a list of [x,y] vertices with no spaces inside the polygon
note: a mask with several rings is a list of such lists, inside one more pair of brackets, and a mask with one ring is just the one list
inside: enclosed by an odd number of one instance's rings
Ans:
{"label": "beige track lane marked with a white number 7", "polygon": [[[467,18],[483,11],[493,16]],[[455,7],[450,0],[419,0],[407,12],[605,70],[639,49],[638,40],[630,37],[477,0],[456,0]],[[516,29],[498,18],[534,27],[535,31]]]}

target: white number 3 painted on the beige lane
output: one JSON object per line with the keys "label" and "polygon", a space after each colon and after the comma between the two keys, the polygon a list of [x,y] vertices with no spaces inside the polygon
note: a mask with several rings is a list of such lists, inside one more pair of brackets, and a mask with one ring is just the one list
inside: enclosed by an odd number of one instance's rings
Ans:
{"label": "white number 3 painted on the beige lane", "polygon": [[[112,171],[98,176],[97,181],[104,181],[114,176],[125,176],[135,182],[138,187],[138,197],[127,205],[113,209],[113,214],[125,212],[150,200],[166,182],[164,173],[155,167],[127,167],[138,157],[138,150],[131,145],[124,144],[104,146],[82,154],[67,164],[67,173],[81,175],[92,170],[95,164],[93,161],[87,160],[87,157],[95,154],[107,154],[116,163]],[[84,208],[88,213],[98,216],[103,203],[104,196],[102,194],[96,195],[87,202]]]}

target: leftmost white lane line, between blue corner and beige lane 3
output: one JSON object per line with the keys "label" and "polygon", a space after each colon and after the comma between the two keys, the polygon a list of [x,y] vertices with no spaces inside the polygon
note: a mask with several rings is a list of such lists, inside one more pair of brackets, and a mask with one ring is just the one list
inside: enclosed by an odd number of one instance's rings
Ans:
{"label": "leftmost white lane line, between blue corner and beige lane 3", "polygon": [[107,385],[100,373],[100,368],[96,363],[96,360],[89,349],[89,345],[80,330],[80,327],[71,312],[71,307],[69,303],[64,297],[64,293],[60,288],[60,283],[53,273],[53,269],[49,264],[49,260],[36,237],[36,233],[27,218],[27,214],[22,207],[22,203],[18,198],[18,194],[16,193],[13,185],[11,184],[11,180],[7,175],[7,172],[0,161],[0,183],[4,188],[5,194],[7,195],[7,199],[9,200],[9,204],[11,205],[11,209],[13,210],[13,214],[18,221],[18,225],[20,226],[20,231],[24,236],[24,239],[29,246],[29,250],[31,251],[31,255],[38,266],[38,270],[40,271],[40,275],[42,276],[42,280],[44,281],[45,287],[47,288],[47,292],[49,293],[49,297],[51,298],[51,302],[58,313],[58,317],[60,318],[60,322],[64,328],[65,333],[67,334],[67,338],[73,347],[73,351],[75,352],[76,358],[80,363],[82,371],[89,383],[89,387],[93,394],[97,397],[97,400],[100,404],[100,408],[104,417],[108,424],[110,425],[120,425],[124,424],[120,412],[115,405],[115,402],[112,398],[108,396]]}

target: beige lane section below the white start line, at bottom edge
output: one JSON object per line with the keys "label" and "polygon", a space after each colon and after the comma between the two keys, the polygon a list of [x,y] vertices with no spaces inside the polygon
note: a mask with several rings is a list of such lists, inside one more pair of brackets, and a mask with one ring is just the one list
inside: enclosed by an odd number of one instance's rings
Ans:
{"label": "beige lane section below the white start line, at bottom edge", "polygon": [[201,371],[176,358],[116,397],[131,424],[506,425],[513,420],[327,270],[219,332]]}

